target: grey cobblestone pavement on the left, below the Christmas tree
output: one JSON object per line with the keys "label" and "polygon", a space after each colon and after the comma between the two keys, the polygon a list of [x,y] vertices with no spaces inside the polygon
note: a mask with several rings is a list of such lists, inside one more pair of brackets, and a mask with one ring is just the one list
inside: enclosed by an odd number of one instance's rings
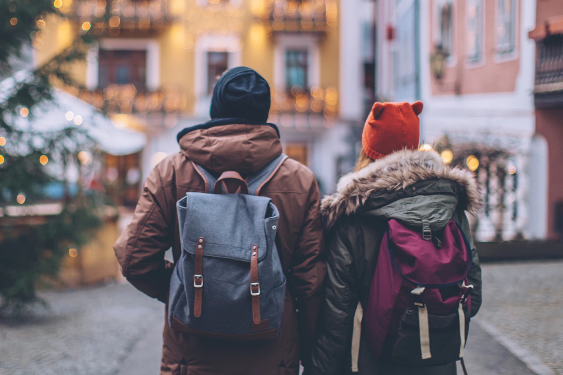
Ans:
{"label": "grey cobblestone pavement on the left, below the Christmas tree", "polygon": [[51,306],[21,323],[0,322],[0,375],[110,375],[163,305],[129,284],[45,292]]}

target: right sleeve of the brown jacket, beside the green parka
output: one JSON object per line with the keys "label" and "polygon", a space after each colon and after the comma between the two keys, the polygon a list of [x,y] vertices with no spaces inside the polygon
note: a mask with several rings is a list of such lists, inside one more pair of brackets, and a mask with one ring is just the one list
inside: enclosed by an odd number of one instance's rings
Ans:
{"label": "right sleeve of the brown jacket, beside the green parka", "polygon": [[324,260],[324,233],[320,217],[320,191],[314,180],[309,190],[301,235],[293,251],[289,282],[296,299],[301,363],[310,368],[311,346],[323,303],[327,272]]}

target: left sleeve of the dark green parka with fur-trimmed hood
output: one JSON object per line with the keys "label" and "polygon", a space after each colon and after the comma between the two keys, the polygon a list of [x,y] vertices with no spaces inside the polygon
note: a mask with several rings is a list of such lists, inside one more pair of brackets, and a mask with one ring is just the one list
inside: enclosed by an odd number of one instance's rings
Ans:
{"label": "left sleeve of the dark green parka with fur-trimmed hood", "polygon": [[350,372],[347,359],[359,290],[349,238],[346,231],[338,227],[327,237],[326,296],[312,350],[313,373],[318,375]]}

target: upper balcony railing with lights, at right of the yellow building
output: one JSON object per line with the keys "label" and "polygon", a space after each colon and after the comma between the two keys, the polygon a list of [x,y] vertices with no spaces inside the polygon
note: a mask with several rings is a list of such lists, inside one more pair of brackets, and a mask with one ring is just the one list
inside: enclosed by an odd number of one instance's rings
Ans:
{"label": "upper balcony railing with lights, at right of the yellow building", "polygon": [[261,16],[274,33],[323,34],[337,25],[336,0],[267,0]]}

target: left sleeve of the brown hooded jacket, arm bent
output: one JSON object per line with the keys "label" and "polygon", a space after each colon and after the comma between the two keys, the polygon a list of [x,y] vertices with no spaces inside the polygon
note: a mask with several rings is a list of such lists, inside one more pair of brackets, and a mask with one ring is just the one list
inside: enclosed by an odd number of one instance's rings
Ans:
{"label": "left sleeve of the brown hooded jacket, arm bent", "polygon": [[123,275],[150,297],[166,301],[173,265],[164,260],[172,245],[169,202],[158,166],[145,180],[131,223],[114,245]]}

